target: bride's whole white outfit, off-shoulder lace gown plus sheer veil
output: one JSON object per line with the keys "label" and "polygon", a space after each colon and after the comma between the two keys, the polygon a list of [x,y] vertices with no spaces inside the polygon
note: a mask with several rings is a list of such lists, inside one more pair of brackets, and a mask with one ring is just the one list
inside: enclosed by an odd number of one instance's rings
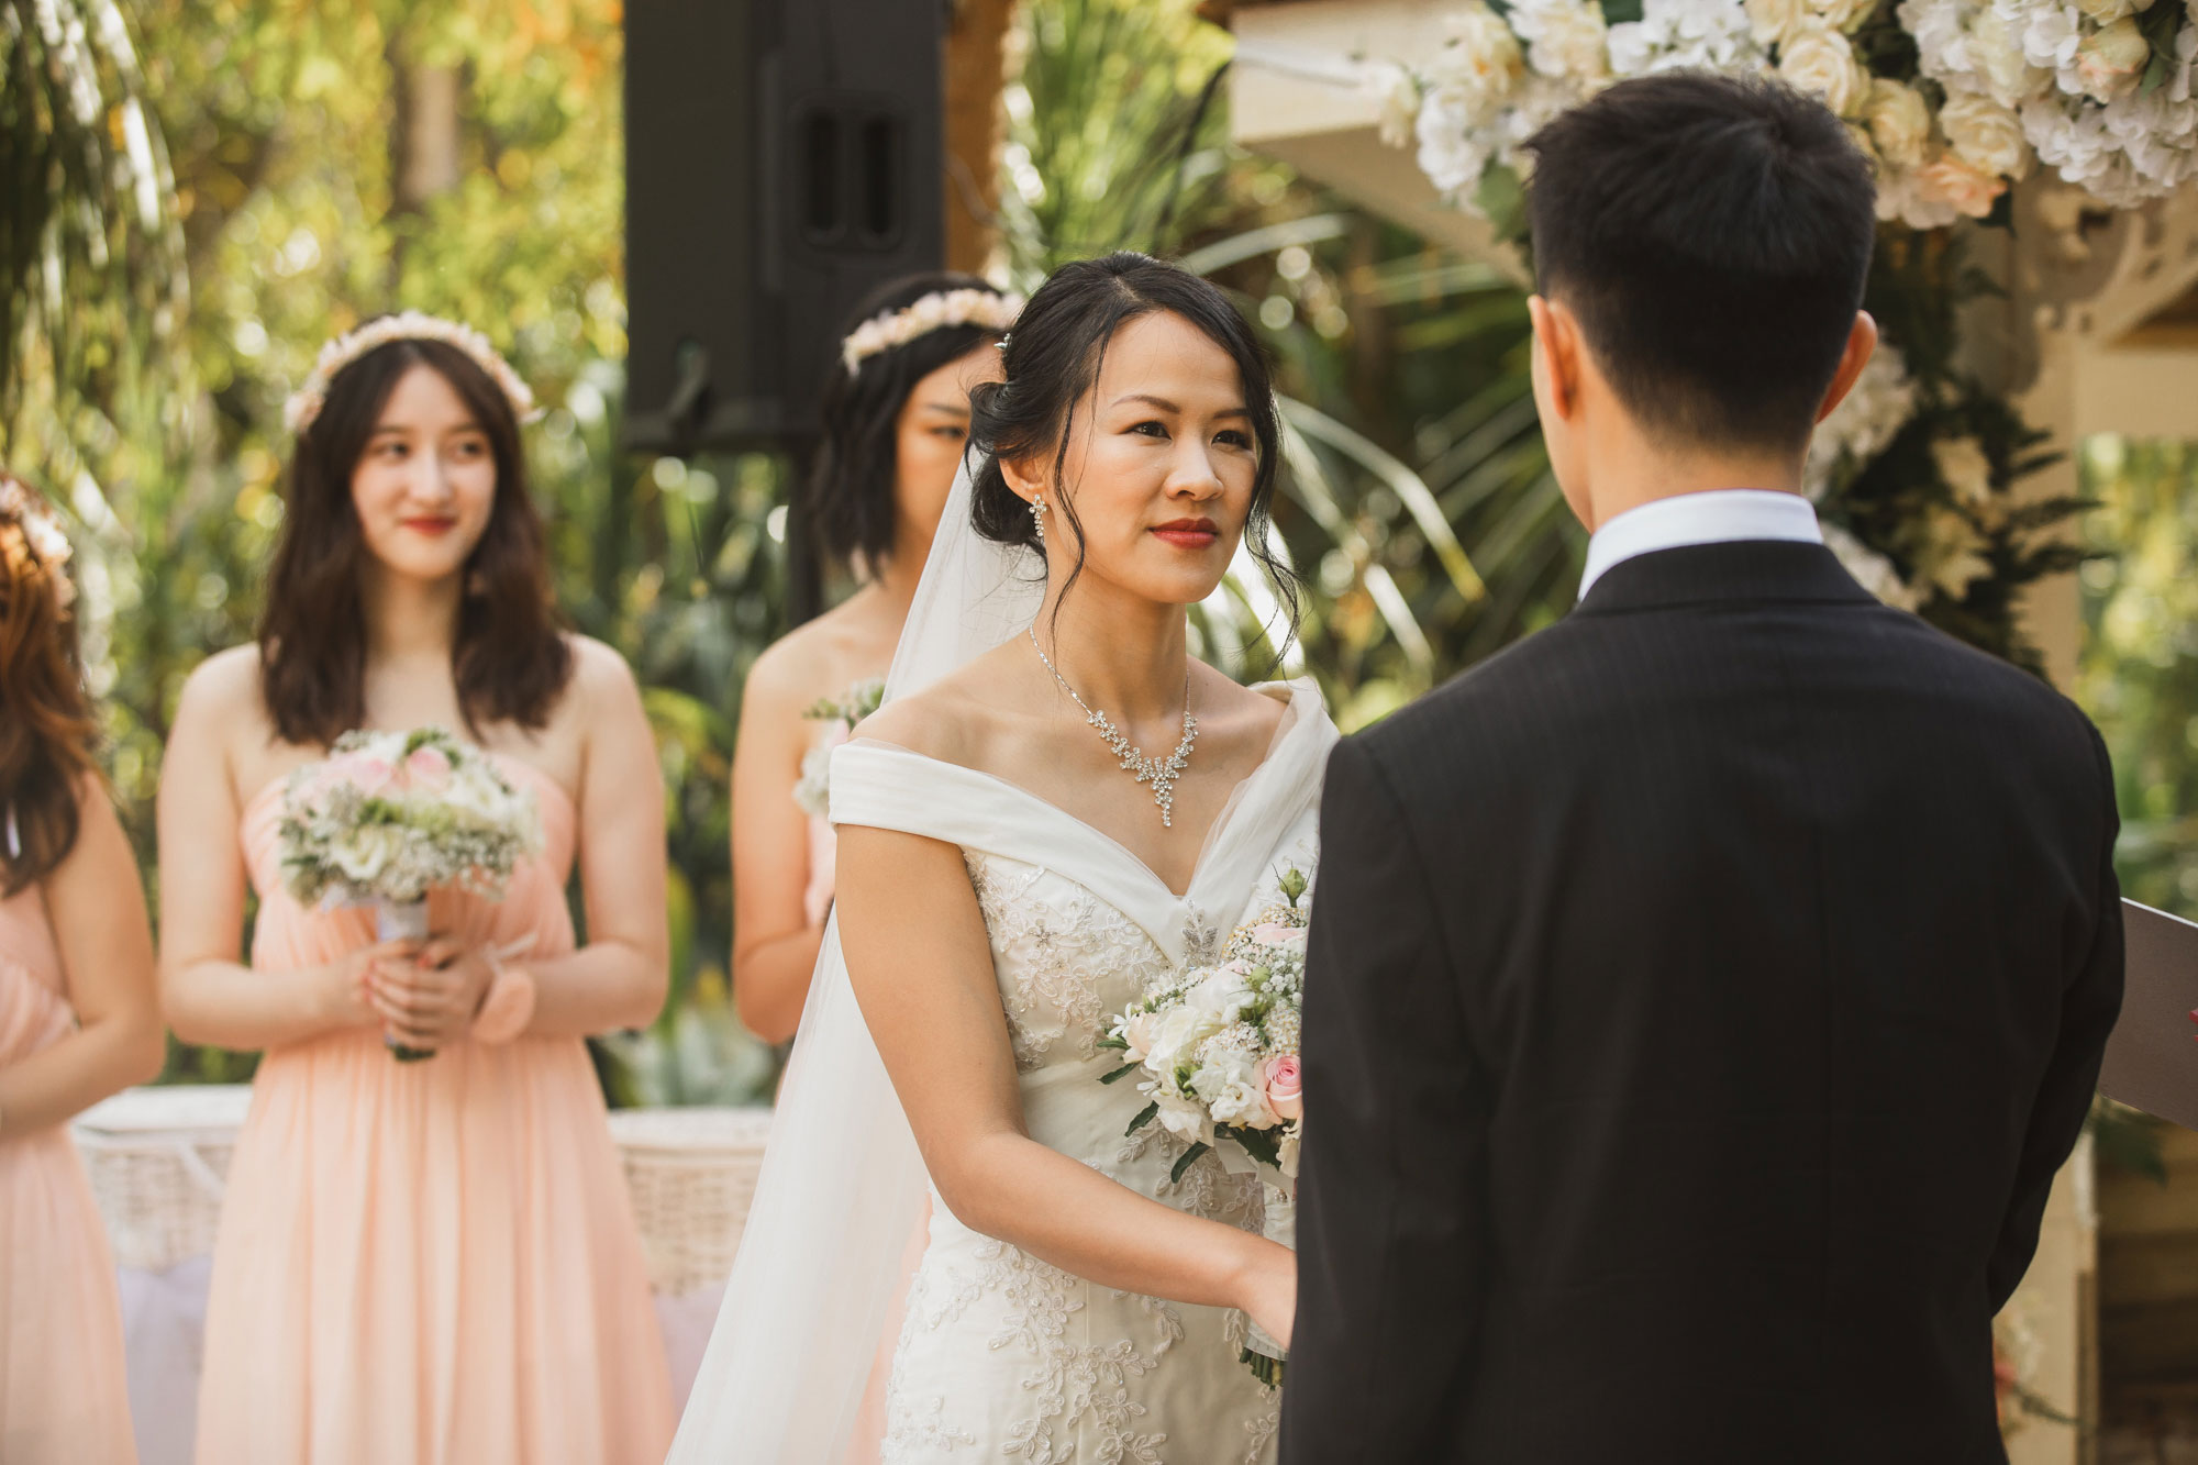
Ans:
{"label": "bride's whole white outfit, off-shoulder lace gown plus sheer veil", "polygon": [[[1240,568],[1257,574],[1248,557]],[[1035,554],[969,526],[965,469],[886,700],[1022,636],[1042,594]],[[1222,809],[1180,897],[1119,842],[1011,783],[866,739],[833,754],[835,820],[965,851],[1031,1135],[1141,1194],[1242,1227],[1259,1223],[1255,1183],[1213,1157],[1172,1183],[1180,1142],[1158,1126],[1123,1137],[1145,1100],[1134,1080],[1099,1082],[1119,1065],[1095,1043],[1150,977],[1218,950],[1255,904],[1273,902],[1288,864],[1312,860],[1336,730],[1310,682],[1286,695],[1268,759]],[[928,1188],[833,922],[673,1465],[1273,1456],[1279,1397],[1237,1362],[1237,1315],[1092,1287],[925,1205]],[[912,1263],[925,1214],[928,1243]],[[866,1408],[879,1366],[888,1368],[881,1450]]]}

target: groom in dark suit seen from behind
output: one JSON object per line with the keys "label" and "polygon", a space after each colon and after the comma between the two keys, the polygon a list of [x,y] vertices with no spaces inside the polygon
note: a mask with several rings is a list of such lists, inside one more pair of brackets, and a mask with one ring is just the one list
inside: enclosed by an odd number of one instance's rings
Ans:
{"label": "groom in dark suit seen from behind", "polygon": [[1875,343],[1796,92],[1532,143],[1578,609],[1341,743],[1284,1465],[2000,1461],[1991,1315],[2121,1001],[2106,750],[1796,488]]}

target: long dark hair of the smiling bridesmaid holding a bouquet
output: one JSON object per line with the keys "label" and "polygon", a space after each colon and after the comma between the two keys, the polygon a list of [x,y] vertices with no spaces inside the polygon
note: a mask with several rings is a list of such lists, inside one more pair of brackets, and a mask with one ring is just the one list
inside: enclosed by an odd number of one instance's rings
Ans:
{"label": "long dark hair of the smiling bridesmaid holding a bouquet", "polygon": [[510,398],[455,345],[391,341],[336,372],[290,462],[288,513],[259,616],[259,691],[288,743],[332,743],[367,717],[360,572],[371,550],[352,506],[352,473],[398,378],[415,365],[451,383],[497,464],[497,497],[466,559],[451,649],[459,713],[475,737],[492,722],[541,728],[571,680]]}

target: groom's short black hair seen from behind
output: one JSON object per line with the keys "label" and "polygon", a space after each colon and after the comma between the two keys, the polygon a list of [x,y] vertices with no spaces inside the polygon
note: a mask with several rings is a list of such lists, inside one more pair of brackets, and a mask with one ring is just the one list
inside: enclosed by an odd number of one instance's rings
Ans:
{"label": "groom's short black hair seen from behind", "polygon": [[1541,293],[1627,409],[1690,444],[1791,451],[1840,367],[1877,231],[1870,165],[1776,81],[1620,81],[1528,147]]}

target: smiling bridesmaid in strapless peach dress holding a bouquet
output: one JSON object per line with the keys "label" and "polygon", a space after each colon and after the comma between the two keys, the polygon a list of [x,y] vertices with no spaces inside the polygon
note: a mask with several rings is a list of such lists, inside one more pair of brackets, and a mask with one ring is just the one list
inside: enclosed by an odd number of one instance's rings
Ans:
{"label": "smiling bridesmaid in strapless peach dress holding a bouquet", "polygon": [[[530,409],[464,326],[407,312],[332,343],[290,403],[259,642],[176,711],[167,1014],[191,1043],[266,1049],[213,1249],[204,1465],[655,1465],[670,1441],[582,1045],[664,1001],[664,792],[626,664],[556,629]],[[536,792],[545,849],[503,902],[437,891],[424,946],[376,944],[367,913],[284,891],[281,785],[347,728],[422,724]],[[435,1056],[396,1062],[385,1038]]]}

